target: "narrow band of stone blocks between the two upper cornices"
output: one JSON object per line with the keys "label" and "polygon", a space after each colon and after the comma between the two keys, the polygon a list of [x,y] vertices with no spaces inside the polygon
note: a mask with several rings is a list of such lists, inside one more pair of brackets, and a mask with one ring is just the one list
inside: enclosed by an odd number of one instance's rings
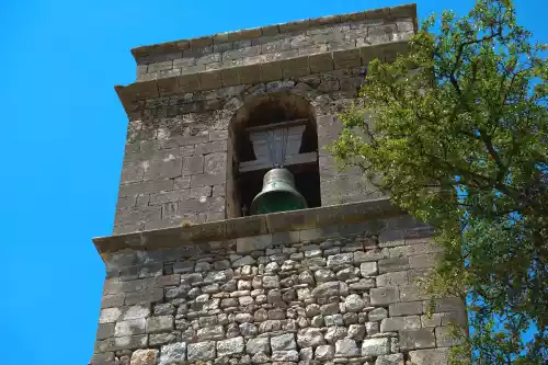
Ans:
{"label": "narrow band of stone blocks between the two upper cornices", "polygon": [[414,20],[409,14],[388,16],[377,12],[373,19],[338,23],[330,16],[323,22],[248,30],[244,32],[249,38],[232,42],[221,34],[202,38],[193,48],[137,56],[137,81],[403,41],[414,32]]}

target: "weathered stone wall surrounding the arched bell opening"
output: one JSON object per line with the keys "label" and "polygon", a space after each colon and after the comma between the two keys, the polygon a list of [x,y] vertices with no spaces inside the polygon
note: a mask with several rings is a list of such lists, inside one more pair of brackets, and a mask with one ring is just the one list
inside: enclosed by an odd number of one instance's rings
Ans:
{"label": "weathered stone wall surrounding the arched bell opening", "polygon": [[313,109],[323,206],[377,197],[358,171],[339,172],[323,148],[338,137],[334,115],[355,102],[364,72],[355,67],[134,103],[114,232],[225,219],[230,119],[246,102],[271,93],[302,98]]}

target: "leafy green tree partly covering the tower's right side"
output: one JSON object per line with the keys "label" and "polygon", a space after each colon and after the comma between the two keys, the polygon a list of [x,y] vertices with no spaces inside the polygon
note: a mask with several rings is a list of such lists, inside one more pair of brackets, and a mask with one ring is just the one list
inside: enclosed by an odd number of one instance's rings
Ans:
{"label": "leafy green tree partly covering the tower's right side", "polygon": [[510,1],[431,16],[409,53],[369,64],[331,148],[434,227],[427,289],[467,299],[456,352],[476,364],[548,361],[547,49]]}

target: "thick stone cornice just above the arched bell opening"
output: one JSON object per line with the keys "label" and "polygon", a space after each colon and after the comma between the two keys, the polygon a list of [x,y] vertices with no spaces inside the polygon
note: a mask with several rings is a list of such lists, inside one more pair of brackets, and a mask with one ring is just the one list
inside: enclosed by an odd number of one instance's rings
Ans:
{"label": "thick stone cornice just above the arched bell opening", "polygon": [[147,99],[214,90],[237,84],[270,82],[336,69],[366,66],[374,58],[386,59],[387,57],[393,57],[397,53],[403,53],[407,46],[407,41],[388,42],[270,62],[134,82],[126,87],[116,85],[114,89],[124,109],[130,111],[134,102]]}

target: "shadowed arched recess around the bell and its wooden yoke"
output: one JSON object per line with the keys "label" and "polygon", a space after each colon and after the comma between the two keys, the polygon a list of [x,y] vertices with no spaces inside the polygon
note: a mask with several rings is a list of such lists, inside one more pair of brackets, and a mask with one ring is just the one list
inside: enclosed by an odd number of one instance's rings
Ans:
{"label": "shadowed arched recess around the bell and its wooden yoke", "polygon": [[[293,91],[293,90],[292,90]],[[271,92],[246,98],[232,114],[228,126],[227,217],[248,215],[250,201],[262,187],[262,173],[240,173],[239,163],[255,158],[246,132],[249,127],[306,119],[299,153],[318,153],[316,110],[310,101],[294,92]],[[321,205],[318,159],[316,163],[292,166],[297,190],[308,206]]]}

